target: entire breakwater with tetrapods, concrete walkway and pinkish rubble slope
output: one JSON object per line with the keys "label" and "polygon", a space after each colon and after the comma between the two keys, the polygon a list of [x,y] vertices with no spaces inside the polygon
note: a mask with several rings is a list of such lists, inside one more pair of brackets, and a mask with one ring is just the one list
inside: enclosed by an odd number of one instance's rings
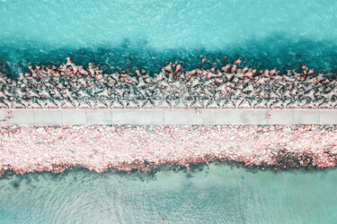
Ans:
{"label": "entire breakwater with tetrapods, concrete walkway and pinkish rubble slope", "polygon": [[150,171],[232,160],[245,166],[337,164],[337,82],[302,66],[234,65],[149,75],[98,66],[30,66],[0,73],[0,174],[83,166]]}

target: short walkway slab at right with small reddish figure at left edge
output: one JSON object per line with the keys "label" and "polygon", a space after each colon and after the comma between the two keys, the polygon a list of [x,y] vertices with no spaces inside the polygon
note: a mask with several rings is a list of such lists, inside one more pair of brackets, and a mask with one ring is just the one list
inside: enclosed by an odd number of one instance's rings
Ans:
{"label": "short walkway slab at right with small reddish figure at left edge", "polygon": [[268,125],[293,125],[294,111],[288,109],[268,110]]}

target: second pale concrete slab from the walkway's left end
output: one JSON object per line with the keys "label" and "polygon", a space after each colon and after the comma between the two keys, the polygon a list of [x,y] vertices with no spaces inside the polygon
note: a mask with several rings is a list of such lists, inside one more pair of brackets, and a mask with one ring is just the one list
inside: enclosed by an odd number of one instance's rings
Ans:
{"label": "second pale concrete slab from the walkway's left end", "polygon": [[34,125],[60,125],[62,113],[60,110],[35,110]]}

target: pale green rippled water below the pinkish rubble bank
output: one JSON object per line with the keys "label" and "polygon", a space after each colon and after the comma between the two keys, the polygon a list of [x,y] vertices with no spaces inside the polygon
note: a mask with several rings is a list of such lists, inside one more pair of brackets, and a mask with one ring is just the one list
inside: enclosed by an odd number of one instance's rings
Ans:
{"label": "pale green rippled water below the pinkish rubble bank", "polygon": [[0,180],[0,223],[336,223],[337,170],[121,175],[68,170]]}

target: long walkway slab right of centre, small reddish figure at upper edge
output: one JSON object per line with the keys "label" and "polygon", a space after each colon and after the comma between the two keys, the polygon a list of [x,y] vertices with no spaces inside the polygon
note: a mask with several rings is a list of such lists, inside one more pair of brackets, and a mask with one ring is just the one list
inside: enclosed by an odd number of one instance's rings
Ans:
{"label": "long walkway slab right of centre, small reddish figure at upper edge", "polygon": [[194,109],[164,110],[164,125],[215,125],[213,109],[200,109],[200,114]]}

